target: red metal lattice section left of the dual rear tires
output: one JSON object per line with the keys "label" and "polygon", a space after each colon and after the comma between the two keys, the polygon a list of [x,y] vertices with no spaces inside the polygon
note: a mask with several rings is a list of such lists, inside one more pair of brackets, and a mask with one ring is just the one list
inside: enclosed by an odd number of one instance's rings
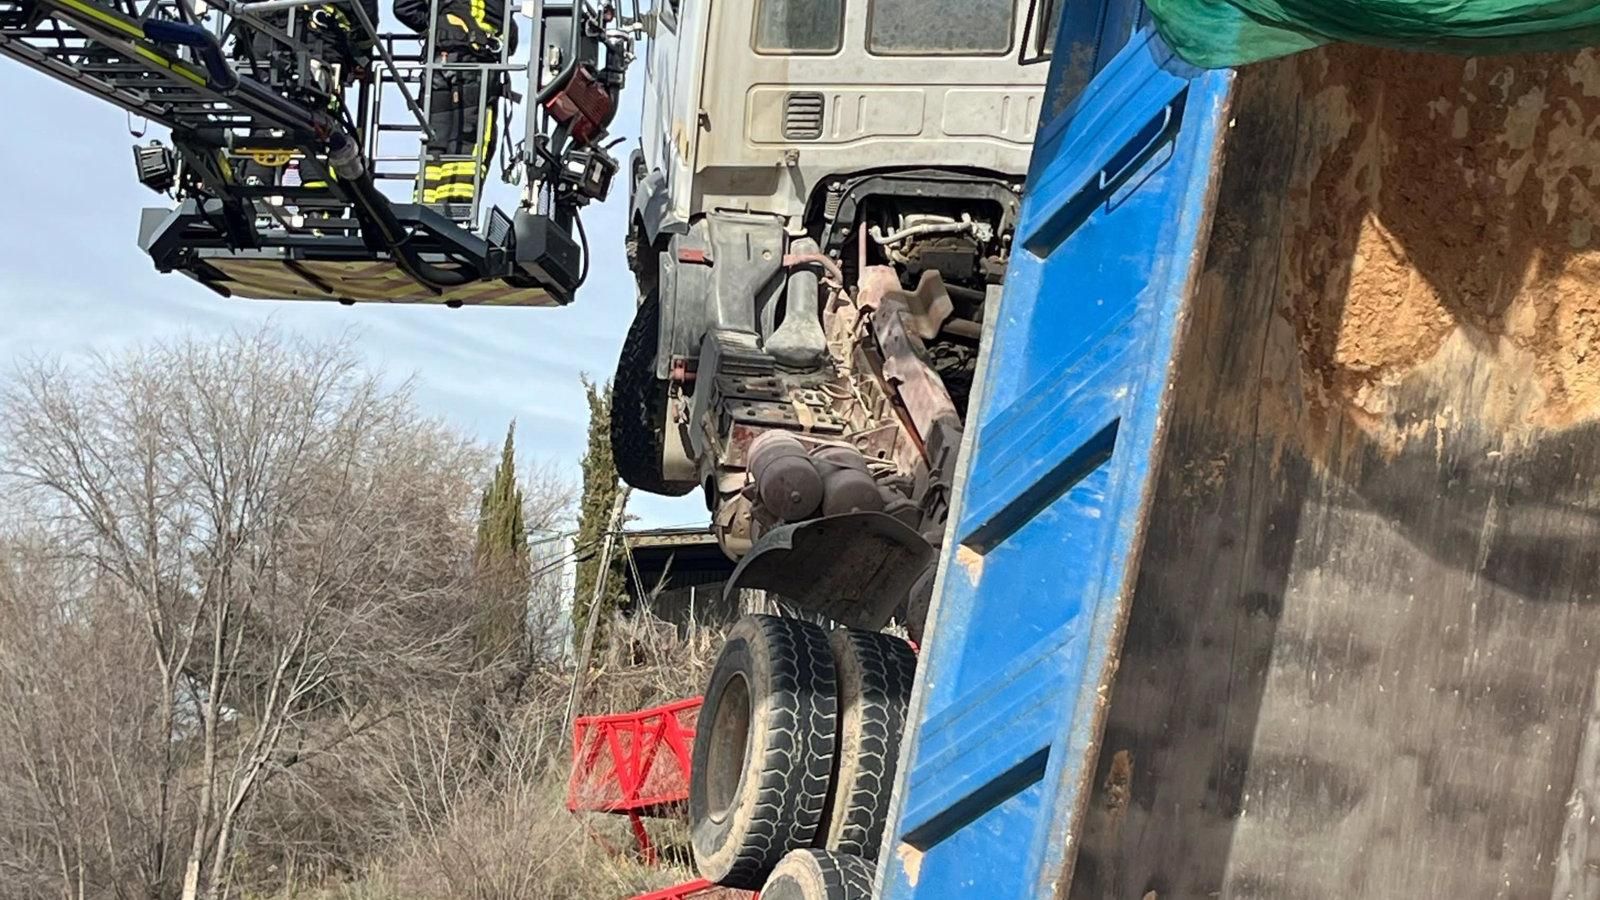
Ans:
{"label": "red metal lattice section left of the dual rear tires", "polygon": [[627,815],[646,862],[656,849],[643,817],[690,798],[690,751],[701,698],[573,722],[573,775],[566,809]]}

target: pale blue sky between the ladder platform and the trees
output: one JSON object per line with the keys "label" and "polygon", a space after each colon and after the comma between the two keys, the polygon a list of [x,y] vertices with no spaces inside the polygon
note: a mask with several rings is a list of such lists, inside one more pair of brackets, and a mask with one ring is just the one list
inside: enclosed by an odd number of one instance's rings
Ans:
{"label": "pale blue sky between the ladder platform and the trees", "polygon": [[[618,131],[629,138],[618,147],[624,160],[637,144],[642,70],[635,64],[618,115]],[[589,283],[566,309],[237,301],[182,275],[158,274],[139,251],[139,210],[165,197],[134,181],[134,138],[122,110],[8,59],[0,59],[0,109],[6,112],[0,362],[22,352],[115,351],[264,322],[312,336],[354,331],[371,365],[416,378],[418,400],[429,412],[496,444],[517,420],[528,461],[554,460],[576,472],[587,428],[579,376],[610,378],[634,311],[622,259],[624,184],[584,216],[594,264]],[[515,194],[504,192],[501,205],[512,207]],[[630,512],[650,525],[706,520],[698,496],[640,495]]]}

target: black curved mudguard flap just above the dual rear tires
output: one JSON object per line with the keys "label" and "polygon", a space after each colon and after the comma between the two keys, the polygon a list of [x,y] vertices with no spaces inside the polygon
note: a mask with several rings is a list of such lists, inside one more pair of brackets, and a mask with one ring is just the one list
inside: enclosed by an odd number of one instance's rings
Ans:
{"label": "black curved mudguard flap just above the dual rear tires", "polygon": [[725,596],[731,602],[741,589],[770,591],[840,625],[877,631],[936,557],[933,544],[893,516],[826,516],[762,535]]}

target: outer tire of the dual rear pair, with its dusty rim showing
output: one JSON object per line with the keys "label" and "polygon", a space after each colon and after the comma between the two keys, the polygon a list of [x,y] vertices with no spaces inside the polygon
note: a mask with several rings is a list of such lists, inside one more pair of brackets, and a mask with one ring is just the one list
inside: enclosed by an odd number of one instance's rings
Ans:
{"label": "outer tire of the dual rear pair, with its dusty rim showing", "polygon": [[690,767],[690,844],[701,878],[757,890],[810,847],[834,773],[837,681],[827,634],[749,615],[706,689]]}

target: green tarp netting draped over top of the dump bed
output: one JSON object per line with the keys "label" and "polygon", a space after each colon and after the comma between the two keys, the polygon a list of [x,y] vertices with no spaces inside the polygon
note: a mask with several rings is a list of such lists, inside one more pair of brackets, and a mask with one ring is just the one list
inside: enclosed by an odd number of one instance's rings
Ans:
{"label": "green tarp netting draped over top of the dump bed", "polygon": [[1242,66],[1334,40],[1443,53],[1600,45],[1600,0],[1146,0],[1195,66]]}

